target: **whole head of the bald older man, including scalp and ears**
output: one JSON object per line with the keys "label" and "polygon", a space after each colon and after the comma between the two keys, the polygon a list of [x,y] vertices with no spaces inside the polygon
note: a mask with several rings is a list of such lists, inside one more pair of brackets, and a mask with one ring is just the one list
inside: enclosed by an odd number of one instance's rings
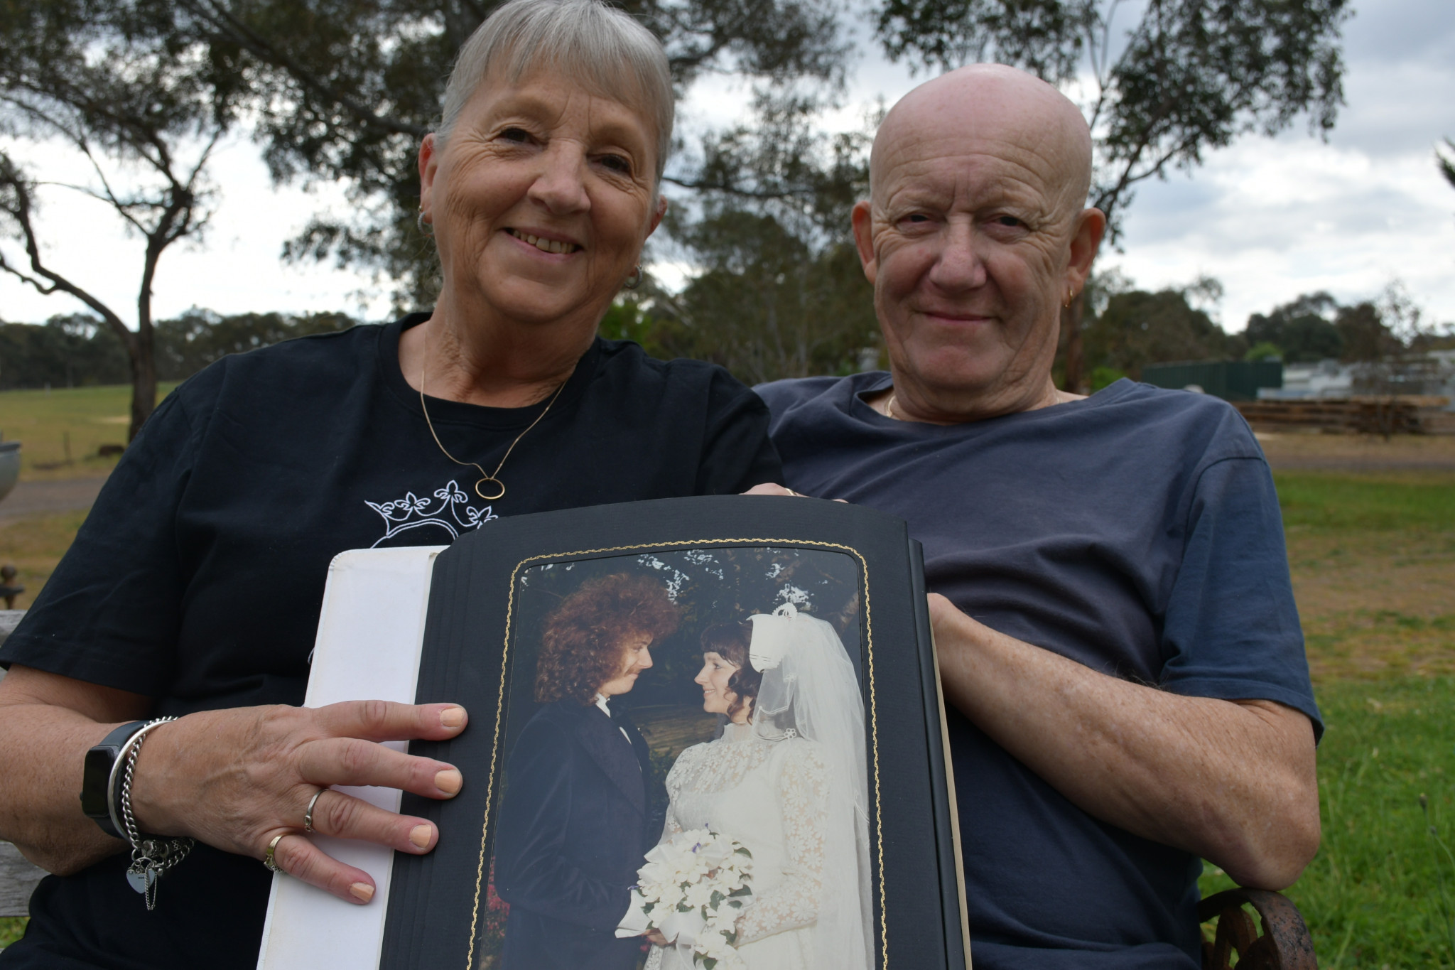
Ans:
{"label": "whole head of the bald older man, including scalp and ears", "polygon": [[1081,112],[1024,71],[965,67],[885,116],[853,215],[896,414],[963,422],[1061,400],[1061,311],[1106,228],[1083,208],[1090,183]]}

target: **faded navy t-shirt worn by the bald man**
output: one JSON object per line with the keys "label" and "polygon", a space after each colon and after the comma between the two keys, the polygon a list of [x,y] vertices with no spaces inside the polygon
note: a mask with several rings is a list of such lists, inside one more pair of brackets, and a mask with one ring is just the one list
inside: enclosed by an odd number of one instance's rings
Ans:
{"label": "faded navy t-shirt worn by the bald man", "polygon": [[[1117,381],[966,425],[883,372],[758,387],[784,484],[908,521],[985,625],[1176,694],[1314,705],[1273,478],[1227,403]],[[949,711],[976,970],[1200,964],[1199,861],[1099,822]]]}

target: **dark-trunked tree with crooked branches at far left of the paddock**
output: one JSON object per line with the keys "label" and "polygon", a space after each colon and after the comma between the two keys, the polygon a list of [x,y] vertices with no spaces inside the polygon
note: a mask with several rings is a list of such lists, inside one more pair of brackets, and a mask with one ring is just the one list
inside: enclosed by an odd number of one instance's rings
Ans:
{"label": "dark-trunked tree with crooked branches at far left of the paddock", "polygon": [[[36,179],[0,153],[0,269],[42,294],[68,294],[127,349],[134,438],[156,404],[153,282],[162,254],[207,225],[207,163],[236,119],[237,79],[175,31],[166,4],[12,0],[0,6],[0,131],[47,153],[67,148],[90,177],[64,188],[109,207],[143,240],[135,314],[96,295],[92,268],[61,272],[38,223]],[[135,329],[127,326],[127,317]]]}

